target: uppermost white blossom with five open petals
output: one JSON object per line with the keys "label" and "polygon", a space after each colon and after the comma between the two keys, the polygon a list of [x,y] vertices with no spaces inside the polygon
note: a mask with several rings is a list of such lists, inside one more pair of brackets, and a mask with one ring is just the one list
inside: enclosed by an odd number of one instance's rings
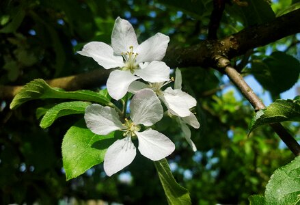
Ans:
{"label": "uppermost white blossom with five open petals", "polygon": [[[92,57],[105,69],[120,68],[111,72],[107,79],[109,94],[115,100],[119,100],[126,94],[128,86],[137,79],[151,83],[169,79],[169,67],[161,62],[168,42],[168,36],[156,33],[138,44],[131,23],[118,17],[111,34],[111,46],[104,42],[90,42],[77,53]],[[141,68],[144,62],[150,64]]]}

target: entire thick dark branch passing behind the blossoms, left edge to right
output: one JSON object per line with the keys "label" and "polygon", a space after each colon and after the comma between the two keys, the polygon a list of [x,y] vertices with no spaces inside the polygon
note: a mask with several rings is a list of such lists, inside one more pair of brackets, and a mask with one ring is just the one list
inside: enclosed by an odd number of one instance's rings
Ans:
{"label": "entire thick dark branch passing behind the blossoms, left edge to right", "polygon": [[[245,54],[249,49],[254,49],[300,32],[299,19],[300,9],[279,16],[270,23],[243,29],[223,40],[204,40],[189,48],[170,48],[163,61],[172,68],[190,66],[217,68],[216,60],[218,56],[231,59],[232,57]],[[99,86],[105,82],[108,74],[109,70],[100,69],[77,76],[53,79],[51,86],[62,87],[66,90]],[[82,76],[85,77],[84,81]],[[20,88],[1,85],[0,99],[11,100]]]}

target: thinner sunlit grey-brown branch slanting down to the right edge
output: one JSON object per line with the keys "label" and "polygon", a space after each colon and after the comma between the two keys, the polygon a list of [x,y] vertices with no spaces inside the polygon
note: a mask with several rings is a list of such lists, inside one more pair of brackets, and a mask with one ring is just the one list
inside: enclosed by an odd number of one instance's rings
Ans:
{"label": "thinner sunlit grey-brown branch slanting down to the right edge", "polygon": [[[251,87],[247,85],[241,74],[238,73],[232,66],[230,66],[230,61],[226,58],[219,57],[219,69],[223,69],[224,72],[228,75],[232,83],[236,85],[238,90],[241,91],[243,96],[251,103],[252,107],[254,107],[255,111],[266,108],[264,103],[258,98],[258,96],[253,92]],[[295,154],[295,156],[300,155],[300,146],[299,143],[286,131],[286,128],[282,126],[280,123],[270,124],[275,133],[286,143],[286,146]]]}

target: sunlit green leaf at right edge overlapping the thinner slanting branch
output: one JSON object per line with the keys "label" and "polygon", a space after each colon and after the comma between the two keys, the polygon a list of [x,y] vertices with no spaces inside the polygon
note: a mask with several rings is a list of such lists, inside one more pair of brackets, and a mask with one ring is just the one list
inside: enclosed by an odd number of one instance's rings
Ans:
{"label": "sunlit green leaf at right edge overlapping the thinner slanting branch", "polygon": [[300,100],[275,100],[256,113],[249,124],[249,133],[263,124],[300,121]]}

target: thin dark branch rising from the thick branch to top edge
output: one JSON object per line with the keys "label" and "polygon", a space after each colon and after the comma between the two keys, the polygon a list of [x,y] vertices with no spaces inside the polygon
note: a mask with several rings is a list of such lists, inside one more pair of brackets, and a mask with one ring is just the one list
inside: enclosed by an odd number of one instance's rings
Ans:
{"label": "thin dark branch rising from the thick branch to top edge", "polygon": [[210,14],[210,22],[208,25],[208,39],[217,39],[217,30],[221,22],[222,14],[225,9],[226,0],[214,0],[213,12]]}

